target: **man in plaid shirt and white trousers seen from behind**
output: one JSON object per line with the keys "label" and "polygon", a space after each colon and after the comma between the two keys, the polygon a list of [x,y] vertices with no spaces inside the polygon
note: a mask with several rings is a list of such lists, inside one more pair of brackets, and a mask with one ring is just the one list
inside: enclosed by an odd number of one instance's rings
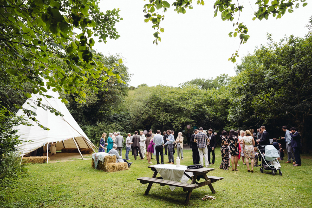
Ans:
{"label": "man in plaid shirt and white trousers seen from behind", "polygon": [[209,138],[207,134],[202,132],[203,128],[199,128],[199,132],[195,135],[195,139],[197,140],[197,148],[199,152],[199,161],[202,166],[204,166],[204,161],[202,159],[202,155],[205,156],[205,165],[206,167],[209,167],[209,162],[208,162],[208,149],[207,149],[207,142],[209,142]]}

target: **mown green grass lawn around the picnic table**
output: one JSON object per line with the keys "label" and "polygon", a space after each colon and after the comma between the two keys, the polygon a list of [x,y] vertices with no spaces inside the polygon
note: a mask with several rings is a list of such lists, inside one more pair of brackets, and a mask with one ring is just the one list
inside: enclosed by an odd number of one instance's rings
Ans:
{"label": "mown green grass lawn around the picnic table", "polygon": [[[0,207],[312,207],[311,155],[301,155],[300,167],[280,161],[283,175],[272,176],[271,171],[261,173],[259,167],[254,173],[247,172],[242,161],[239,171],[219,169],[221,152],[219,148],[215,152],[216,164],[211,166],[215,170],[208,175],[224,177],[212,184],[217,193],[212,194],[208,186],[197,188],[186,206],[187,192],[179,187],[170,191],[168,186],[153,184],[144,196],[148,184],[136,178],[152,177],[153,172],[147,160],[134,161],[130,156],[129,170],[112,173],[92,169],[90,159],[29,165],[28,177],[14,187],[0,187]],[[191,164],[192,150],[184,150],[181,165]],[[205,195],[216,196],[216,200],[200,200]]]}

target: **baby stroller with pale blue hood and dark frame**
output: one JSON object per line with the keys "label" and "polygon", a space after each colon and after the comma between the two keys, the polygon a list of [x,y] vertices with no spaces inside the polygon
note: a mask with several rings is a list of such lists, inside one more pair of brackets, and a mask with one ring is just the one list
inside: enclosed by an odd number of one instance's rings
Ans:
{"label": "baby stroller with pale blue hood and dark frame", "polygon": [[[260,172],[264,170],[271,170],[274,176],[279,171],[280,176],[283,174],[280,171],[280,163],[277,158],[280,157],[277,149],[273,145],[258,146],[259,154],[261,155],[261,168]],[[264,153],[264,154],[263,154]],[[259,157],[260,158],[260,157]]]}

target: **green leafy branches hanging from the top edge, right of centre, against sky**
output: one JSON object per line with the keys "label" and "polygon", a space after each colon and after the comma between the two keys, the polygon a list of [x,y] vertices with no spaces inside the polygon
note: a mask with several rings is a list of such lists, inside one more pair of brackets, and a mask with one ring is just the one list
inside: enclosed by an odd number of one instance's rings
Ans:
{"label": "green leafy branches hanging from the top edge, right of centre, against sky", "polygon": [[[281,18],[286,11],[292,13],[293,9],[298,8],[300,4],[302,4],[303,7],[308,4],[305,2],[305,0],[300,0],[300,3],[299,0],[258,0],[254,2],[255,5],[257,5],[258,10],[254,12],[255,17],[253,17],[253,20],[256,18],[259,20],[262,20],[263,18],[268,19],[269,16],[276,17],[276,19],[278,19]],[[295,2],[297,3],[295,4]],[[193,0],[177,0],[170,5],[169,2],[163,0],[149,0],[149,3],[144,5],[143,12],[146,13],[146,15],[144,15],[144,22],[152,22],[152,28],[157,29],[157,31],[153,34],[155,37],[153,43],[158,45],[158,41],[161,41],[159,34],[160,32],[164,32],[164,28],[160,27],[160,22],[164,20],[165,16],[158,13],[167,12],[168,9],[172,6],[175,12],[185,14],[187,8],[193,9],[192,3]],[[204,0],[197,0],[196,3],[202,6],[205,5]],[[250,2],[244,3],[250,4]],[[234,21],[234,14],[236,12],[239,13],[238,17],[233,23],[233,27],[236,28],[234,29],[234,32],[230,32],[228,35],[230,37],[236,37],[238,35],[240,38],[240,44],[246,43],[249,39],[249,35],[247,35],[248,28],[242,22],[239,22],[244,5],[240,4],[238,0],[237,2],[232,0],[216,0],[213,8],[215,9],[214,17],[216,17],[219,13],[223,21]],[[161,11],[155,12],[156,10]],[[229,60],[231,60],[233,63],[236,62],[236,56],[238,57],[237,51],[232,54],[232,57],[229,58]]]}

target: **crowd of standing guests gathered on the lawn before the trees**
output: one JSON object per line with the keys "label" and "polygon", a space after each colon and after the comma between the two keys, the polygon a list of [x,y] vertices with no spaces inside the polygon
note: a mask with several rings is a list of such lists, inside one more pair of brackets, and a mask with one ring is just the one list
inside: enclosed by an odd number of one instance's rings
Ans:
{"label": "crowd of standing guests gathered on the lawn before the trees", "polygon": [[[281,137],[281,139],[285,139],[288,154],[288,160],[286,163],[290,163],[292,159],[293,166],[300,166],[300,134],[297,132],[296,128],[291,128],[291,133],[286,126],[283,126],[282,129],[285,131],[285,137]],[[156,159],[154,160],[157,161],[157,164],[163,164],[163,156],[168,155],[167,163],[174,164],[173,154],[175,153],[175,147],[177,148],[178,157],[183,160],[182,135],[182,132],[178,132],[178,136],[175,139],[173,130],[164,131],[162,135],[159,130],[157,130],[156,133],[153,133],[152,129],[149,130],[149,133],[147,133],[146,136],[143,131],[140,131],[140,135],[137,131],[135,131],[133,135],[128,133],[128,137],[125,141],[126,159],[122,159],[123,136],[121,136],[119,132],[113,132],[109,133],[107,140],[105,140],[106,133],[103,133],[100,138],[99,152],[105,152],[105,150],[107,153],[113,152],[115,154],[118,152],[120,156],[118,159],[127,162],[127,160],[131,160],[129,159],[129,152],[131,151],[132,155],[134,155],[134,160],[136,160],[138,156],[143,160],[146,156],[146,160],[149,164],[153,163],[151,162],[151,160],[154,159],[152,158],[153,155],[156,156]],[[202,127],[195,129],[192,135],[188,131],[187,139],[187,143],[192,149],[194,165],[200,164],[204,167],[205,164],[206,167],[209,167],[210,164],[213,165],[215,163],[214,150],[217,145],[217,138],[216,133],[213,133],[211,128],[208,132],[204,131]],[[247,167],[247,171],[253,172],[254,166],[258,166],[259,153],[257,152],[257,146],[270,144],[270,135],[266,131],[265,126],[261,126],[261,128],[257,129],[257,132],[255,132],[254,129],[247,129],[245,131],[235,131],[232,129],[228,133],[224,130],[220,135],[220,150],[222,156],[220,169],[228,170],[229,167],[232,167],[232,171],[238,171],[238,167],[240,166],[238,161],[242,159],[243,165],[246,165]],[[284,151],[281,148],[280,143],[277,143],[276,138],[273,139],[273,145],[279,151],[280,159],[283,159]],[[210,155],[212,155],[212,161],[210,160]],[[205,162],[203,158],[205,159]]]}

